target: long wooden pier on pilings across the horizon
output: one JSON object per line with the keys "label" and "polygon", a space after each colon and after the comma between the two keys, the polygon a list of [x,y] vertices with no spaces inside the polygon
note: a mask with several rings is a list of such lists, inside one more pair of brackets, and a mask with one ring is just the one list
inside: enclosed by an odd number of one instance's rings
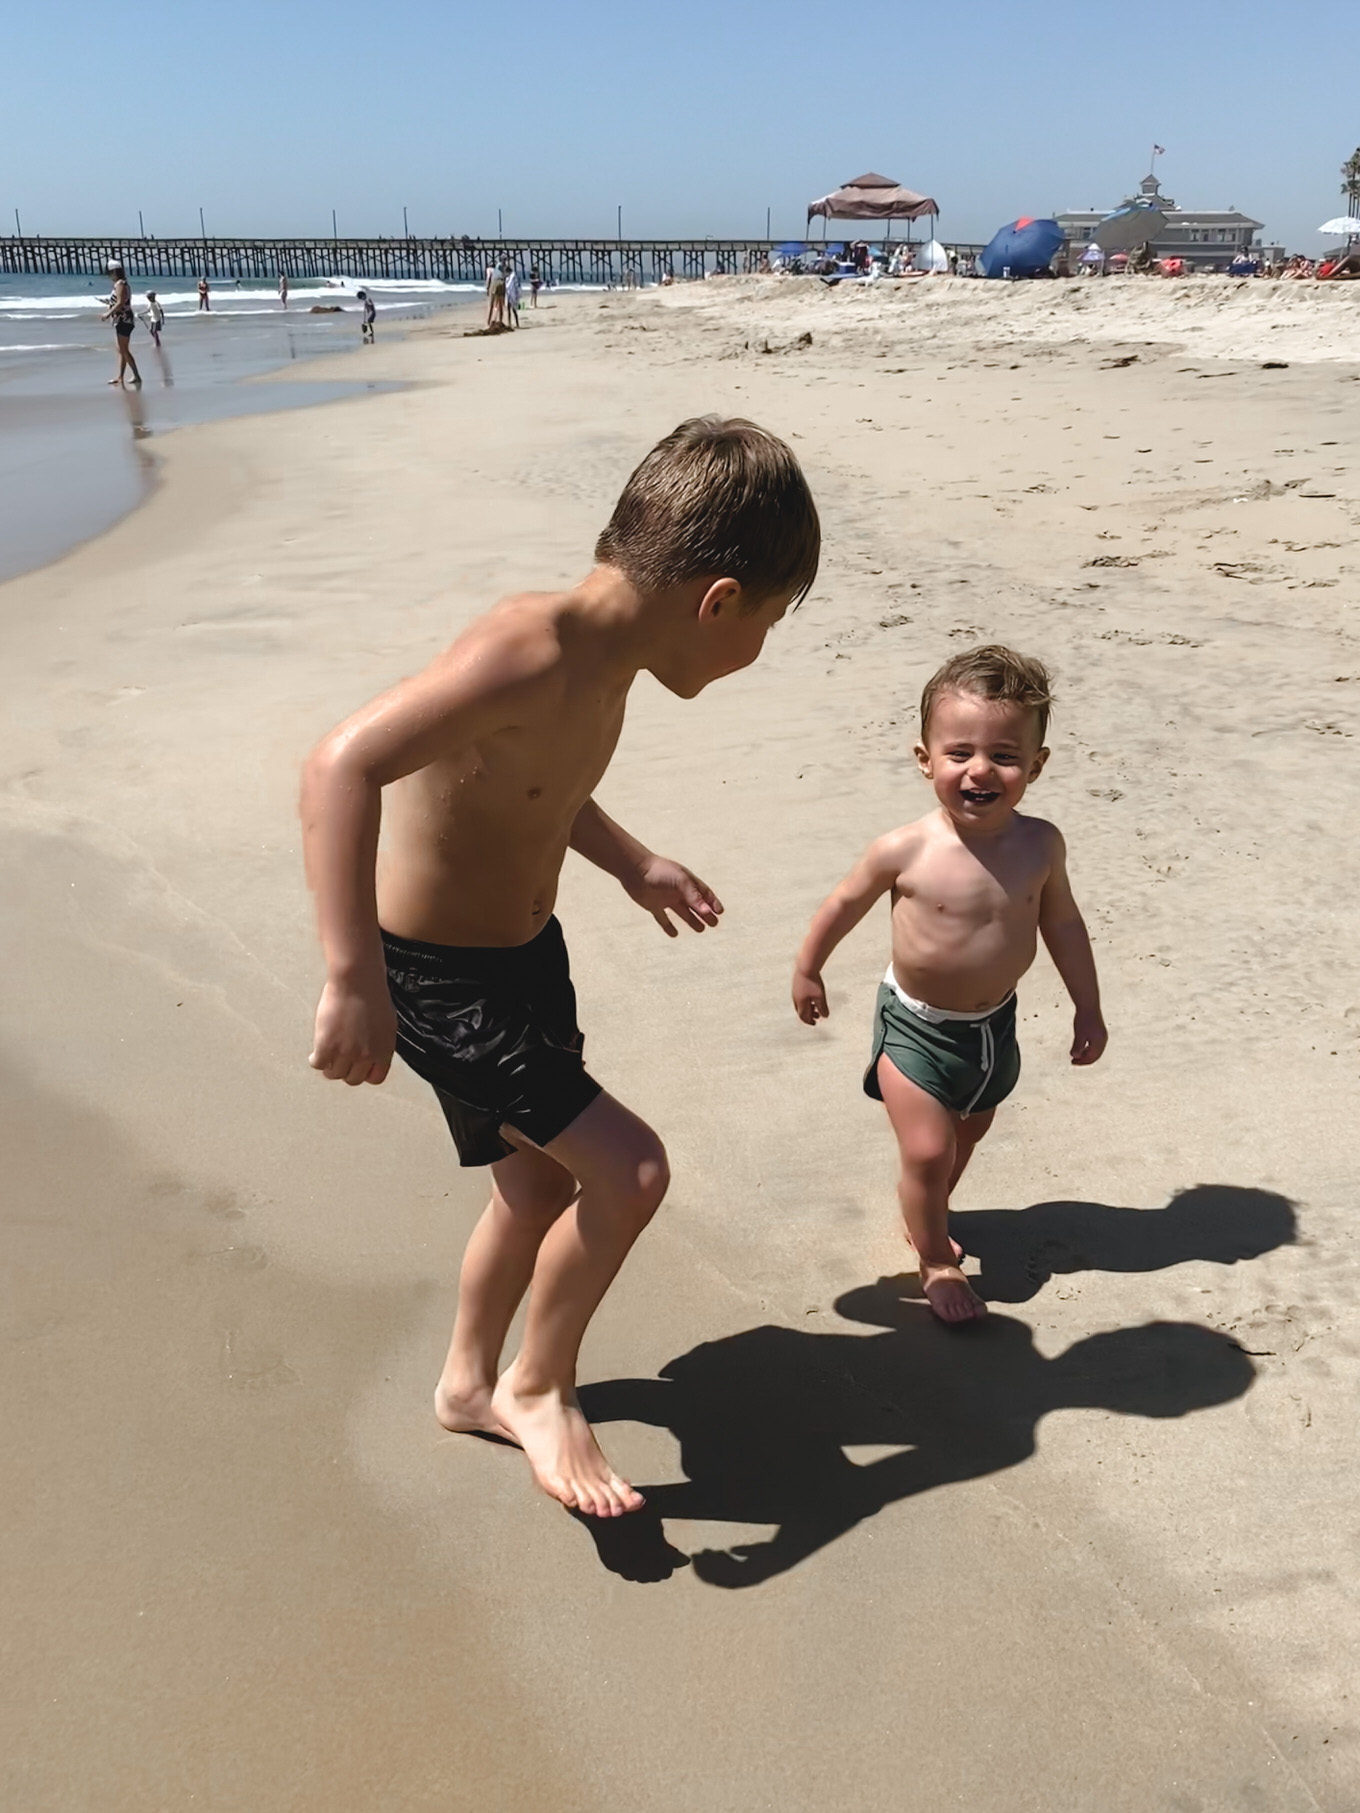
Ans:
{"label": "long wooden pier on pilings across the horizon", "polygon": [[63,239],[0,238],[0,274],[98,277],[111,261],[129,277],[426,277],[481,286],[510,263],[544,283],[660,283],[765,268],[774,239]]}

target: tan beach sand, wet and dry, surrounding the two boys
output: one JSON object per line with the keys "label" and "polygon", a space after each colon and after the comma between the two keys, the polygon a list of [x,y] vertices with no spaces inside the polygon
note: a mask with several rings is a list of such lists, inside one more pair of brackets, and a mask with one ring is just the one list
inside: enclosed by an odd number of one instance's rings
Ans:
{"label": "tan beach sand, wet and dry, surrounding the two boys", "polygon": [[[178,433],[141,511],[0,589],[0,1800],[1351,1813],[1360,292],[709,283],[524,321]],[[432,1420],[481,1186],[408,1073],[306,1070],[296,772],[490,598],[578,575],[698,410],[794,437],[827,553],[758,667],[638,685],[600,790],[722,930],[562,890],[591,1064],[676,1175],[584,1365],[665,1516],[597,1554]],[[1035,809],[1113,1037],[1066,1066],[1041,959],[959,1197],[996,1313],[950,1336],[860,1095],[885,919],[816,1033],[787,979],[927,805],[921,680],[994,636],[1059,674]]]}

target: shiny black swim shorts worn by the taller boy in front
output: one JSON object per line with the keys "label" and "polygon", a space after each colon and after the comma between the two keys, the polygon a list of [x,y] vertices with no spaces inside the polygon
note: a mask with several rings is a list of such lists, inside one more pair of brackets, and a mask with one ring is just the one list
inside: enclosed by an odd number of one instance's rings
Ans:
{"label": "shiny black swim shorts worn by the taller boy in front", "polygon": [[557,917],[528,945],[417,945],[383,934],[397,1052],[433,1088],[461,1164],[564,1133],[600,1084],[586,1071]]}

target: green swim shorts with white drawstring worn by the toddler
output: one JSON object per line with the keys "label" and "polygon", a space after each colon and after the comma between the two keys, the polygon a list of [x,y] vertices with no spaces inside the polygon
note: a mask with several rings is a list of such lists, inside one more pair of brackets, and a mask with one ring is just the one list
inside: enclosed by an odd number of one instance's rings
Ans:
{"label": "green swim shorts with white drawstring worn by the toddler", "polygon": [[1003,1102],[1019,1081],[1015,997],[990,1013],[947,1013],[912,1001],[889,970],[874,1010],[874,1055],[865,1071],[865,1095],[883,1100],[878,1061],[889,1061],[956,1115],[981,1115]]}

